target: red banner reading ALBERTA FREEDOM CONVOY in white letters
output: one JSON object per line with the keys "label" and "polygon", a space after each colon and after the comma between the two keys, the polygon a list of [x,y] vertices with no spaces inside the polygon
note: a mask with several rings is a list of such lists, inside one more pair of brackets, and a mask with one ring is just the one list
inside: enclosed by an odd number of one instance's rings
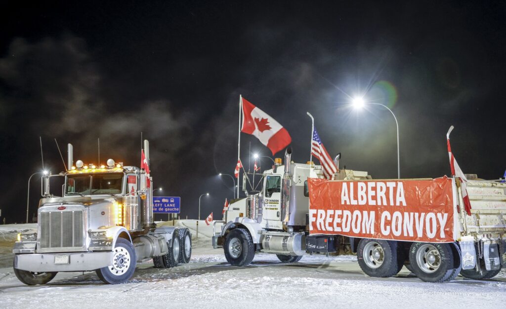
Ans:
{"label": "red banner reading ALBERTA FREEDOM CONVOY in white letters", "polygon": [[453,242],[450,178],[327,181],[308,179],[309,233]]}

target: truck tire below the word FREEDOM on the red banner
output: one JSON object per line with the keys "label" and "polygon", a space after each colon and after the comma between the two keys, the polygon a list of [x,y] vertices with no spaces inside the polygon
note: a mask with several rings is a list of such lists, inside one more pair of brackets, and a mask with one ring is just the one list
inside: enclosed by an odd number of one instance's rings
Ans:
{"label": "truck tire below the word FREEDOM on the red banner", "polygon": [[392,277],[399,272],[397,242],[363,238],[357,248],[358,264],[370,277]]}

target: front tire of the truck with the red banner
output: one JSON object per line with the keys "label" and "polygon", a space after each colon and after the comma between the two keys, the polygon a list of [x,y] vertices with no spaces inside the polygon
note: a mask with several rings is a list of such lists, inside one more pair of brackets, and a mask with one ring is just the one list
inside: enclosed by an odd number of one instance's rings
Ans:
{"label": "front tire of the truck with the red banner", "polygon": [[225,237],[225,258],[233,266],[247,266],[255,257],[255,244],[245,229],[233,229]]}

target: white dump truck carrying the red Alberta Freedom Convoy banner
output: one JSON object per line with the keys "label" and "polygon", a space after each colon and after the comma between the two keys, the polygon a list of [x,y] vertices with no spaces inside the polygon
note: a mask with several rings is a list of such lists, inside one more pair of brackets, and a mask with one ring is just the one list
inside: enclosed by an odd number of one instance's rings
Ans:
{"label": "white dump truck carrying the red Alberta Freedom Convoy banner", "polygon": [[[506,184],[471,180],[472,208],[458,179],[372,180],[341,169],[323,179],[321,166],[276,159],[260,193],[231,203],[214,224],[213,246],[234,266],[256,253],[297,262],[305,253],[357,254],[363,272],[391,277],[406,266],[427,282],[487,279],[506,266]],[[335,162],[337,166],[338,162]]]}

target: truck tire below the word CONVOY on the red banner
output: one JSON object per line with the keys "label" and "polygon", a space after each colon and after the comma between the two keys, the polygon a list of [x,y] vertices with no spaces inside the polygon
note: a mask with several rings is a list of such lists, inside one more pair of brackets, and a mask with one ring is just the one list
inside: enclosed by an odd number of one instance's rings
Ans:
{"label": "truck tire below the word CONVOY on the red banner", "polygon": [[416,277],[425,282],[445,282],[454,273],[453,251],[448,243],[414,242],[409,263]]}

